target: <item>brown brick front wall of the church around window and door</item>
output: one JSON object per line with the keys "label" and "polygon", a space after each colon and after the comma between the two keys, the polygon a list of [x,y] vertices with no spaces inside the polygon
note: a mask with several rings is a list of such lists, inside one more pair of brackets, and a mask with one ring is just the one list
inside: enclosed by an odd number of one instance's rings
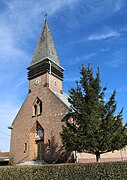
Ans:
{"label": "brown brick front wall of the church around window and door", "polygon": [[[14,163],[36,159],[36,121],[44,129],[45,160],[55,161],[55,156],[58,157],[63,152],[59,133],[61,120],[68,109],[48,87],[45,87],[47,74],[38,78],[41,79],[38,85],[35,83],[37,78],[30,81],[31,93],[28,94],[13,122],[10,157]],[[57,83],[57,90],[60,91],[62,82],[58,80]],[[42,113],[33,117],[32,106],[37,97],[42,101]],[[51,140],[50,150],[47,149],[48,140]],[[24,152],[25,143],[26,152]]]}

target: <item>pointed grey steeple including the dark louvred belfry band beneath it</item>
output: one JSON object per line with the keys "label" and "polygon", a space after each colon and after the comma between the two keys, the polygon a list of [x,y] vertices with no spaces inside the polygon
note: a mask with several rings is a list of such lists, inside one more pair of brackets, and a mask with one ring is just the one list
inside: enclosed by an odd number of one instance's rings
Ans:
{"label": "pointed grey steeple including the dark louvred belfry band beneath it", "polygon": [[45,73],[63,80],[64,69],[60,65],[47,20],[45,20],[31,64],[27,69],[29,80]]}

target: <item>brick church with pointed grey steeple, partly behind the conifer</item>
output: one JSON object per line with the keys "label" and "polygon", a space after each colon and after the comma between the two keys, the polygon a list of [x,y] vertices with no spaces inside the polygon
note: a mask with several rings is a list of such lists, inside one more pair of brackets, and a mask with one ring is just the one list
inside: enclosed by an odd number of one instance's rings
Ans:
{"label": "brick church with pointed grey steeple, partly behind the conifer", "polygon": [[[64,69],[47,20],[28,69],[28,95],[11,126],[10,161],[48,163],[67,160],[60,132],[70,104],[62,91]],[[102,155],[101,161],[127,159],[126,149]],[[95,162],[94,155],[78,153],[79,162]]]}

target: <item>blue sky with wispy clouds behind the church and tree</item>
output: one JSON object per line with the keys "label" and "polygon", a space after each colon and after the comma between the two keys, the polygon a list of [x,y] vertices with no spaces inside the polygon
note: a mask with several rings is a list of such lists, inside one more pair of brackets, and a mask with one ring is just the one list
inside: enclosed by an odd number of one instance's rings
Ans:
{"label": "blue sky with wispy clouds behind the church and tree", "polygon": [[[116,89],[127,120],[126,0],[0,1],[0,151],[9,151],[11,125],[28,92],[27,70],[48,12],[65,68],[63,90],[75,86],[81,64],[100,67],[106,99]],[[4,133],[5,134],[4,134]]]}

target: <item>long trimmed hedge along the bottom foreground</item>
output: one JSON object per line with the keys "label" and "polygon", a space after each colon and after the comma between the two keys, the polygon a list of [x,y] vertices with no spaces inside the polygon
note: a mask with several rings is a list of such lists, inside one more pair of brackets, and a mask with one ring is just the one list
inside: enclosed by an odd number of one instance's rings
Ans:
{"label": "long trimmed hedge along the bottom foreground", "polygon": [[127,162],[0,167],[0,180],[126,180]]}

